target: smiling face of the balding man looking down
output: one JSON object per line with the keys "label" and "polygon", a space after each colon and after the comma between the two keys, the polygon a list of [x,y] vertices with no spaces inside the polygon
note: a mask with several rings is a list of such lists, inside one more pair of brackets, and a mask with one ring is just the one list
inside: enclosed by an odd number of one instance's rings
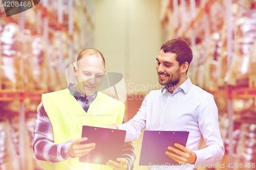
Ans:
{"label": "smiling face of the balding man looking down", "polygon": [[105,68],[99,54],[84,57],[74,67],[76,83],[74,88],[81,94],[92,95],[101,86]]}

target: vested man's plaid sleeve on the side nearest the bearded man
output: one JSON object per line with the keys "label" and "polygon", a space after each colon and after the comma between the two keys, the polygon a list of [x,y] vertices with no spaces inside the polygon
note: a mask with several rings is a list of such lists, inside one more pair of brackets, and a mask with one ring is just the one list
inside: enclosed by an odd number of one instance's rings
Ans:
{"label": "vested man's plaid sleeve on the side nearest the bearded man", "polygon": [[[123,124],[125,123],[125,117],[123,116]],[[127,169],[133,169],[133,164],[136,158],[136,154],[134,151],[133,143],[130,142],[125,142],[123,146],[123,153],[122,157],[128,160],[128,168]]]}

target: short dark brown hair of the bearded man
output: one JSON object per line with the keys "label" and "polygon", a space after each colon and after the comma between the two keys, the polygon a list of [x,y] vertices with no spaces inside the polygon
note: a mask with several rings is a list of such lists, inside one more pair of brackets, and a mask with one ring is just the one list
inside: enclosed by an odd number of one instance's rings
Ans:
{"label": "short dark brown hair of the bearded man", "polygon": [[161,46],[161,50],[163,50],[164,53],[171,52],[176,54],[176,60],[179,62],[180,66],[187,62],[189,67],[190,62],[193,59],[191,48],[185,41],[181,39],[172,39],[165,42]]}

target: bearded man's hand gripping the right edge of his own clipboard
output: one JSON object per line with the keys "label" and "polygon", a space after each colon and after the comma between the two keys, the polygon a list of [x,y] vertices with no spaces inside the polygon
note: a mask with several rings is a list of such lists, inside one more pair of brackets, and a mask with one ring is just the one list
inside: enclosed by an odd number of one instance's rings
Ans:
{"label": "bearded man's hand gripping the right edge of his own clipboard", "polygon": [[195,164],[197,160],[197,156],[195,152],[193,152],[190,148],[184,147],[183,145],[179,143],[174,144],[175,147],[181,149],[182,151],[174,148],[174,147],[168,147],[167,149],[170,151],[175,152],[165,152],[166,155],[168,155],[170,158],[174,159],[176,162],[183,164],[183,163],[190,163],[190,164]]}

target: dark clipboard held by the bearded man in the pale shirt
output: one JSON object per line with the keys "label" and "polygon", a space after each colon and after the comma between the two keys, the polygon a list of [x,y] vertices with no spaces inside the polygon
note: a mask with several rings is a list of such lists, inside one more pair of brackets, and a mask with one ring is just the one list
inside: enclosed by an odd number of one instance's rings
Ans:
{"label": "dark clipboard held by the bearded man in the pale shirt", "polygon": [[[139,165],[179,164],[168,155],[165,151],[168,146],[174,147],[174,143],[180,143],[186,146],[188,131],[149,131],[145,130],[142,139]],[[176,148],[176,147],[175,147]]]}

